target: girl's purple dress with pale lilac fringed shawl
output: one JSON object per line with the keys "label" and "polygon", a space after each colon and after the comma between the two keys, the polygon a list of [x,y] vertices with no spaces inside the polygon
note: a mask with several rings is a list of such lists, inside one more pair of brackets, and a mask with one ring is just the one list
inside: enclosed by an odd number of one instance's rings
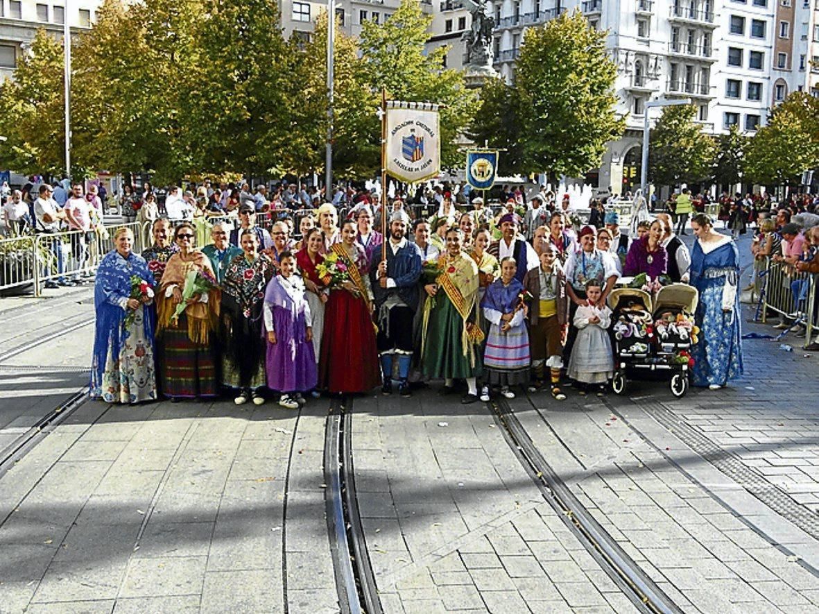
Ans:
{"label": "girl's purple dress with pale lilac fringed shawl", "polygon": [[[276,275],[265,291],[265,311],[272,312],[276,343],[267,344],[267,385],[283,393],[315,388],[317,374],[313,343],[307,340],[310,307],[304,281],[298,275],[284,279]],[[265,316],[265,338],[267,321]]]}

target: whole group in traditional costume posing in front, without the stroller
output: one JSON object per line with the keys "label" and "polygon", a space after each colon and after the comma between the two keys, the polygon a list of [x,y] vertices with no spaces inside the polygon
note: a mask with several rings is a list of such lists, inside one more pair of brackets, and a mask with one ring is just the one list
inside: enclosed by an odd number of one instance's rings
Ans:
{"label": "whole group in traditional costume posing in front, without the stroller", "polygon": [[[433,380],[463,403],[516,389],[558,401],[570,387],[603,394],[614,371],[607,297],[640,274],[699,290],[692,382],[719,388],[740,375],[730,236],[695,214],[689,251],[668,214],[627,235],[615,211],[578,227],[549,201],[537,194],[525,216],[514,201],[493,216],[482,198],[471,207],[443,198],[414,221],[400,198],[341,220],[325,203],[300,221],[298,242],[286,221],[262,229],[242,205],[239,227],[216,222],[205,246],[192,222],[159,218],[142,255],[131,231],[117,230],[97,273],[92,394],[109,403],[227,394],[289,409],[379,385],[407,397]],[[373,223],[382,216],[386,232]]]}

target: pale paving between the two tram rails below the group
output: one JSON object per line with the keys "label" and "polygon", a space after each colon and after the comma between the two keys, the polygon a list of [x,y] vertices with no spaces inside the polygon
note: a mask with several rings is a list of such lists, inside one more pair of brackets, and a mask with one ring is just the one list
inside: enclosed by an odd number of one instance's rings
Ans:
{"label": "pale paving between the two tram rails below the group", "polygon": [[353,447],[385,612],[634,612],[554,515],[485,405],[359,398]]}

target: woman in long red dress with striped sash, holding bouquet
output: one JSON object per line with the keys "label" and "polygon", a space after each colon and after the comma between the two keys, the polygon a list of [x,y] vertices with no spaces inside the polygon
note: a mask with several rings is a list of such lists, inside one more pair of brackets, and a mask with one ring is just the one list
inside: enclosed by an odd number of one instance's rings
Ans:
{"label": "woman in long red dress with striped sash, holding bouquet", "polygon": [[[350,272],[350,280],[330,290],[324,312],[319,357],[319,388],[331,393],[364,393],[381,383],[372,302],[367,287],[367,256],[355,243],[355,222],[342,226],[342,243],[329,252]],[[328,252],[328,253],[329,253]]]}

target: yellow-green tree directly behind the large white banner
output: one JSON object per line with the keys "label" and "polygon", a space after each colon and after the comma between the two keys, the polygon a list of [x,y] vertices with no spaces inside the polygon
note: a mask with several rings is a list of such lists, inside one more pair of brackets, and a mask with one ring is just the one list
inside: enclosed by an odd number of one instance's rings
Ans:
{"label": "yellow-green tree directly behind the large white banner", "polygon": [[[477,97],[464,86],[463,73],[443,68],[448,48],[437,48],[428,54],[424,52],[431,21],[432,16],[423,14],[419,2],[402,0],[398,10],[383,24],[365,23],[359,43],[362,70],[373,93],[380,93],[385,88],[391,99],[443,105],[441,166],[454,168],[464,165],[458,135],[471,119]],[[374,111],[373,108],[370,111],[373,115],[367,116],[369,139],[362,153],[367,157],[367,166],[377,171],[381,166],[378,157],[381,130]]]}

